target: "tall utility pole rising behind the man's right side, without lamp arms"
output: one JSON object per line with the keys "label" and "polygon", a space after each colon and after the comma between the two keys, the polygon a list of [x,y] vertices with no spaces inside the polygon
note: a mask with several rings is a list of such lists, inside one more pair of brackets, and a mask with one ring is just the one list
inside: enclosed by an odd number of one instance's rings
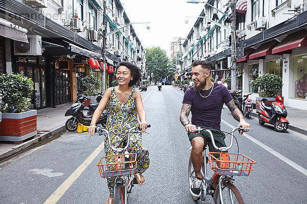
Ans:
{"label": "tall utility pole rising behind the man's right side, without lamp arms", "polygon": [[236,10],[235,10],[235,4],[236,0],[231,0],[230,3],[230,9],[231,9],[231,29],[234,32],[231,32],[231,61],[232,61],[232,67],[231,67],[231,90],[235,91],[236,90],[236,36],[235,36],[235,31],[236,31]]}

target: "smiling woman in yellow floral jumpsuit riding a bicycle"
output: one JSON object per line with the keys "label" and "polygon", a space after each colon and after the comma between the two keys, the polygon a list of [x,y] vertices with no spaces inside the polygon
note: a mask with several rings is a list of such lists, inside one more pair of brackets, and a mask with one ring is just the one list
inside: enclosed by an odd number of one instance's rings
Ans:
{"label": "smiling woman in yellow floral jumpsuit riding a bicycle", "polygon": [[[100,103],[93,114],[92,122],[87,131],[92,136],[95,133],[96,122],[99,119],[102,111],[107,108],[107,121],[106,130],[109,133],[113,133],[112,145],[116,147],[124,146],[124,142],[127,140],[127,135],[130,127],[140,126],[140,130],[145,132],[147,128],[146,113],[144,110],[142,97],[139,91],[134,86],[141,78],[141,69],[130,62],[120,62],[116,67],[116,80],[119,86],[108,88]],[[139,115],[140,123],[138,122],[137,115]],[[137,154],[137,170],[136,179],[139,185],[145,183],[145,178],[142,173],[149,166],[149,152],[146,148],[141,147],[142,139],[139,134],[133,134],[130,136],[130,143],[128,151],[130,153]],[[107,137],[104,139],[104,151],[105,155],[113,155],[113,150],[109,147]],[[110,195],[106,199],[106,204],[113,203],[114,194],[114,179],[108,178],[107,185],[110,191]]]}

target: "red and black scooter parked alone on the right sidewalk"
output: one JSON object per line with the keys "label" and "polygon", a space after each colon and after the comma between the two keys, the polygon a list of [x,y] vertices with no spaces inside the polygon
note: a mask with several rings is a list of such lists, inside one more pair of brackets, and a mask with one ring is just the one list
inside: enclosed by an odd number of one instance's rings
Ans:
{"label": "red and black scooter parked alone on the right sidewalk", "polygon": [[275,131],[280,133],[287,132],[289,121],[286,119],[288,113],[286,107],[283,105],[283,97],[276,95],[272,105],[267,101],[266,98],[262,98],[259,103],[259,124],[264,125],[265,123],[269,123],[274,125]]}

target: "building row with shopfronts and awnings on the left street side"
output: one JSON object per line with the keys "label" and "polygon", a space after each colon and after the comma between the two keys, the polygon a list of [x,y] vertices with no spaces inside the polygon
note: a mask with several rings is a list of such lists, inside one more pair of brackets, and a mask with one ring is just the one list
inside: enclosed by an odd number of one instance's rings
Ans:
{"label": "building row with shopfronts and awnings on the left street side", "polygon": [[[105,6],[106,60],[129,61],[145,69],[145,49],[120,1],[0,0],[0,74],[20,73],[34,82],[32,109],[75,101],[81,79],[94,75],[111,86],[114,73],[92,69],[102,60]],[[122,29],[120,29],[122,28]],[[102,79],[103,78],[103,79]]]}

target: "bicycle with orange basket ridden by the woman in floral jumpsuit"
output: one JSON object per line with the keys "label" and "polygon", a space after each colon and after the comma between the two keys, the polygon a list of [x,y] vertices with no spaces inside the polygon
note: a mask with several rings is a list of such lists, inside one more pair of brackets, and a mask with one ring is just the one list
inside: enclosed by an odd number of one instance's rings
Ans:
{"label": "bicycle with orange basket ridden by the woman in floral jumpsuit", "polygon": [[[148,124],[147,127],[150,127],[150,124]],[[102,127],[97,127],[96,133],[98,133],[98,135],[107,135],[108,144],[115,153],[114,155],[100,158],[97,163],[98,173],[104,179],[107,177],[114,177],[113,203],[125,204],[127,203],[128,193],[131,193],[131,189],[134,184],[138,184],[134,175],[137,168],[137,154],[129,153],[126,151],[126,149],[128,148],[130,142],[130,135],[135,133],[141,134],[142,132],[139,131],[138,127],[131,127],[129,131],[125,133],[128,134],[128,136],[127,143],[124,148],[115,148],[112,146],[110,135],[114,134],[108,133],[108,131]],[[105,159],[107,162],[104,164],[103,160]],[[111,162],[111,160],[115,162]]]}

